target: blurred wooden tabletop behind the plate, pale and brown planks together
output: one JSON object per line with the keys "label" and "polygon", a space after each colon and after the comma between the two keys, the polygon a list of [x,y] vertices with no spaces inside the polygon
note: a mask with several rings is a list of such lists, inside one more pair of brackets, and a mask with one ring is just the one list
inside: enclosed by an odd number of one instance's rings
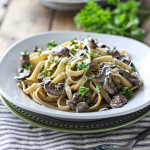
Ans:
{"label": "blurred wooden tabletop behind the plate, pale and brown planks together", "polygon": [[[46,8],[38,0],[1,0],[0,56],[16,41],[39,32],[77,31],[76,13]],[[147,31],[144,43],[150,46],[150,19],[142,26]]]}

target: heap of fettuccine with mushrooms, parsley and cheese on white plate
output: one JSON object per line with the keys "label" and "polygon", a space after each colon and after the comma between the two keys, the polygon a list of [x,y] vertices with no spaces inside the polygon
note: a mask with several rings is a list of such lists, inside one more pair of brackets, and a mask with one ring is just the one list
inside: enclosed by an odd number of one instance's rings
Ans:
{"label": "heap of fettuccine with mushrooms, parsley and cheese on white plate", "polygon": [[142,85],[129,55],[91,37],[22,52],[15,78],[34,101],[62,111],[119,108]]}

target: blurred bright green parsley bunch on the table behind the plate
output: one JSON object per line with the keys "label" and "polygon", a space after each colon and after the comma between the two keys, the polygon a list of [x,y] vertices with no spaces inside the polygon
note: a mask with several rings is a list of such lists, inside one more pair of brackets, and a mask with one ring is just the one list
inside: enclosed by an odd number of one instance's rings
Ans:
{"label": "blurred bright green parsley bunch on the table behind the plate", "polygon": [[[108,0],[109,7],[102,8],[94,0],[89,0],[74,18],[77,28],[97,33],[116,34],[143,40],[145,31],[139,27],[140,2],[128,0]],[[111,7],[110,7],[111,6]]]}

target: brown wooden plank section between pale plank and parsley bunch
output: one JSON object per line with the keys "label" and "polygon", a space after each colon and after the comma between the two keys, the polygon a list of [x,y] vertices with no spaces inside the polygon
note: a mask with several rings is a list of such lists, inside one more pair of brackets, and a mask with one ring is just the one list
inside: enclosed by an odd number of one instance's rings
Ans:
{"label": "brown wooden plank section between pale plank and parsley bunch", "polygon": [[73,21],[75,14],[76,12],[57,11],[54,15],[51,30],[76,31],[77,29]]}

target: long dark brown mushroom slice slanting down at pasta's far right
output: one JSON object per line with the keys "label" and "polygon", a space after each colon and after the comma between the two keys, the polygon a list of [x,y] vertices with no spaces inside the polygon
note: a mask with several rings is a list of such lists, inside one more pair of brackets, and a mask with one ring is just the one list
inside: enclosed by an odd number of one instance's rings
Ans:
{"label": "long dark brown mushroom slice slanting down at pasta's far right", "polygon": [[127,71],[121,70],[121,69],[119,69],[118,71],[119,71],[119,73],[120,73],[121,75],[123,75],[133,86],[139,85],[140,80],[139,80],[136,76],[132,75],[131,73],[129,73],[129,72],[127,72]]}

